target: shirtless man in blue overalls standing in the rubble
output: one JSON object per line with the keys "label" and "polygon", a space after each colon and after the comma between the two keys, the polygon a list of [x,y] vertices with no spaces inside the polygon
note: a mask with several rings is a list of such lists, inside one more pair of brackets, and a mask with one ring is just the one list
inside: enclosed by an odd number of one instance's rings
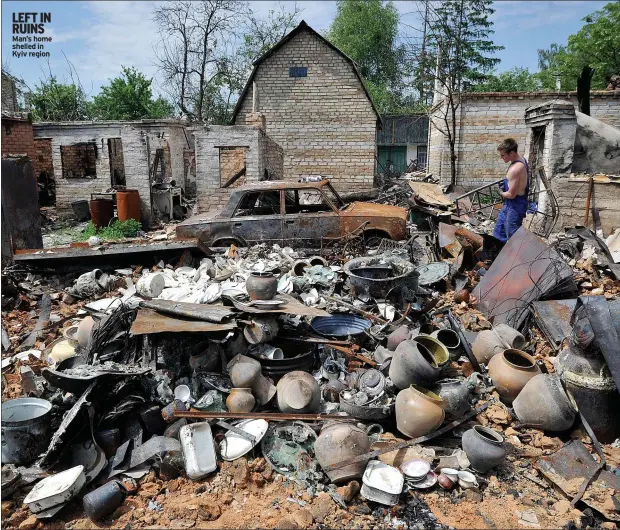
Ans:
{"label": "shirtless man in blue overalls standing in the rubble", "polygon": [[530,168],[527,160],[517,152],[518,148],[513,138],[506,138],[497,146],[499,156],[505,163],[510,164],[506,178],[499,185],[504,204],[493,231],[493,236],[504,243],[523,224],[528,207]]}

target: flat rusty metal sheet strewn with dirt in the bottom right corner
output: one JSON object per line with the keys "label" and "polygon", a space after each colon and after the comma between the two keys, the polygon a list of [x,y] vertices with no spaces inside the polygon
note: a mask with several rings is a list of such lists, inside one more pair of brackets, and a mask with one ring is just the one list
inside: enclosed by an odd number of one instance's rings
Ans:
{"label": "flat rusty metal sheet strewn with dirt in the bottom right corner", "polygon": [[[573,497],[598,466],[579,440],[571,440],[551,456],[540,458],[537,467],[548,480]],[[601,470],[581,500],[608,519],[620,521],[620,477]]]}

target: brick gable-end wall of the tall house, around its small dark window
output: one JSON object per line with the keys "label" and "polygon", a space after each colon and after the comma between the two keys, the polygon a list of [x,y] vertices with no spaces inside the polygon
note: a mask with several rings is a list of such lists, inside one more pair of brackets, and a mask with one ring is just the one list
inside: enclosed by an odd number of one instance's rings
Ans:
{"label": "brick gable-end wall of the tall house, around its small dark window", "polygon": [[[308,68],[289,77],[289,68]],[[376,115],[352,65],[304,30],[265,59],[254,77],[266,133],[283,150],[283,176],[325,175],[336,189],[371,188]],[[252,110],[252,89],[235,123]]]}

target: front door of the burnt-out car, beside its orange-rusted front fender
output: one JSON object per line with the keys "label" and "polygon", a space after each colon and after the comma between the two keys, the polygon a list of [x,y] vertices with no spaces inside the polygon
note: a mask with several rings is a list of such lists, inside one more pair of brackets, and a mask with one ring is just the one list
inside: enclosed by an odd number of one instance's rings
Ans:
{"label": "front door of the burnt-out car, beside its orange-rusted front fender", "polygon": [[340,215],[322,191],[313,188],[284,190],[284,241],[318,243],[340,236]]}

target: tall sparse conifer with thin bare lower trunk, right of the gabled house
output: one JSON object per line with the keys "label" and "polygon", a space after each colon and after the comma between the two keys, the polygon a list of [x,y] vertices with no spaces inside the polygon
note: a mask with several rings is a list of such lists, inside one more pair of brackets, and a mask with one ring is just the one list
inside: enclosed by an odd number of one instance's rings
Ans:
{"label": "tall sparse conifer with thin bare lower trunk, right of the gabled house", "polygon": [[448,140],[450,180],[456,185],[456,118],[461,92],[484,83],[500,59],[502,50],[490,39],[494,31],[489,17],[491,0],[444,0],[433,7],[429,20],[429,54],[421,65],[437,84],[441,97],[434,101],[429,118]]}

